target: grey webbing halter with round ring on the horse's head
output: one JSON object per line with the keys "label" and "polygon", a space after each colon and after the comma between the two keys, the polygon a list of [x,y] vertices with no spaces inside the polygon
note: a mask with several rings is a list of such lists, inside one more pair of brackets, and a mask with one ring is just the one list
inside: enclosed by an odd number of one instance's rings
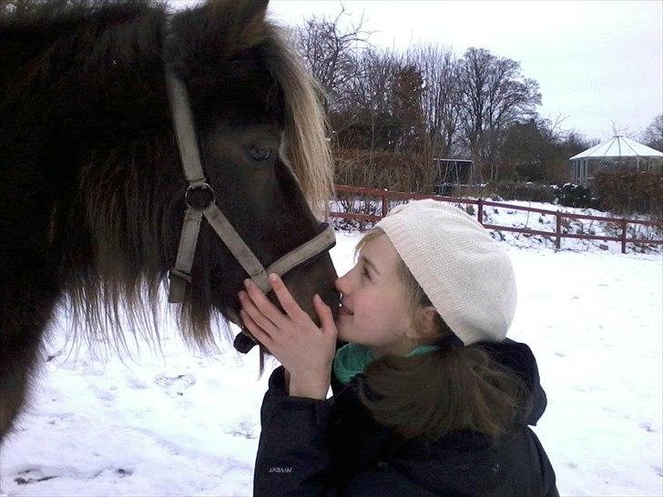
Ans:
{"label": "grey webbing halter with round ring on the horse's head", "polygon": [[[292,269],[316,258],[322,252],[331,249],[335,243],[333,228],[327,223],[321,223],[321,233],[292,250],[285,256],[265,269],[260,260],[256,258],[249,246],[232,227],[216,203],[214,189],[209,186],[200,164],[198,139],[193,126],[189,96],[184,82],[175,74],[168,64],[165,65],[166,86],[168,86],[168,103],[173,119],[173,128],[178,139],[179,157],[182,161],[184,176],[187,177],[189,187],[185,193],[187,209],[184,212],[184,224],[179,238],[178,257],[175,267],[170,269],[168,279],[170,289],[168,302],[182,303],[187,289],[191,283],[191,267],[196,253],[196,245],[202,218],[206,218],[219,238],[228,247],[230,253],[237,259],[241,267],[249,273],[250,279],[258,285],[263,293],[271,290],[268,274],[277,273],[285,275]],[[240,319],[234,310],[230,309],[230,320],[242,327]],[[243,334],[243,336],[242,336]],[[246,340],[248,337],[250,340]],[[234,346],[240,352],[248,352],[258,343],[246,329],[242,329],[235,339]]]}

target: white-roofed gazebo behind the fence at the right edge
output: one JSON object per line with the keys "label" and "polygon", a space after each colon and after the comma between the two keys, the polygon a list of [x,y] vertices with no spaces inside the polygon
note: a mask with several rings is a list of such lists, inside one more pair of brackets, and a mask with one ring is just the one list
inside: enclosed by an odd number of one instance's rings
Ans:
{"label": "white-roofed gazebo behind the fence at the right edge", "polygon": [[663,167],[663,152],[616,135],[569,158],[569,161],[571,180],[587,186],[598,170],[660,171]]}

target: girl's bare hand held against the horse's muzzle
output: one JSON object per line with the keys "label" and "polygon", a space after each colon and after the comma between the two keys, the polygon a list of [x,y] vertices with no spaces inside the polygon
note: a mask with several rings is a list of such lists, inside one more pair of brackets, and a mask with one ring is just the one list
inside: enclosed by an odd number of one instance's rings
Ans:
{"label": "girl's bare hand held against the horse's muzzle", "polygon": [[277,275],[270,274],[270,283],[286,314],[255,283],[245,279],[246,291],[240,291],[244,326],[290,372],[292,396],[325,399],[336,351],[337,332],[331,309],[320,296],[313,297],[313,308],[321,322],[318,328]]}

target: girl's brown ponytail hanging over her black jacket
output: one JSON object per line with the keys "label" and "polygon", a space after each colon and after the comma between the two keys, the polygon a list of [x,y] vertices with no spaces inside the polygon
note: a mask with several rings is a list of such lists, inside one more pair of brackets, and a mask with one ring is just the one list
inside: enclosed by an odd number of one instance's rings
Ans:
{"label": "girl's brown ponytail hanging over her black jacket", "polygon": [[453,339],[440,350],[386,356],[366,368],[368,388],[360,398],[376,421],[403,438],[430,441],[463,430],[497,441],[523,422],[524,382],[480,344],[464,347]]}

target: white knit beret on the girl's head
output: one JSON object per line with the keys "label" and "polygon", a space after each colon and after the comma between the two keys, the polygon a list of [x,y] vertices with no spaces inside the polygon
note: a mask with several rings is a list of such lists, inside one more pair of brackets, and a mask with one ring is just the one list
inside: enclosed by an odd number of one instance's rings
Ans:
{"label": "white knit beret on the girl's head", "polygon": [[515,275],[505,250],[460,208],[418,200],[375,225],[465,345],[506,337],[515,313]]}

